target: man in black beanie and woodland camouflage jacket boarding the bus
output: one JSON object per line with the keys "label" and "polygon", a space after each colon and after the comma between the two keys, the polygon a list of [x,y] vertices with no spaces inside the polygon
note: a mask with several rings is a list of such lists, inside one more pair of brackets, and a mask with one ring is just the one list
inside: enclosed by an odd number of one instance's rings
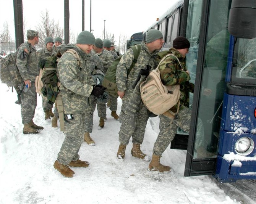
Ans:
{"label": "man in black beanie and woodland camouflage jacket boarding the bus", "polygon": [[[186,132],[190,130],[191,109],[188,108],[189,92],[194,92],[194,84],[189,82],[190,72],[186,69],[186,53],[188,53],[189,48],[190,42],[188,39],[181,36],[175,38],[173,40],[173,47],[169,53],[177,56],[180,63],[175,56],[167,56],[159,66],[162,83],[167,86],[179,84],[181,95],[180,104],[176,104],[170,108],[172,112],[177,112],[178,105],[180,105],[179,112],[174,118],[167,117],[163,114],[159,115],[160,132],[154,144],[152,161],[149,164],[149,170],[152,171],[169,172],[171,170],[169,166],[160,164],[160,157],[175,137],[178,127]],[[205,92],[209,92],[210,94],[211,90],[205,89]],[[197,133],[198,135],[203,134],[203,123],[200,119],[198,120]]]}

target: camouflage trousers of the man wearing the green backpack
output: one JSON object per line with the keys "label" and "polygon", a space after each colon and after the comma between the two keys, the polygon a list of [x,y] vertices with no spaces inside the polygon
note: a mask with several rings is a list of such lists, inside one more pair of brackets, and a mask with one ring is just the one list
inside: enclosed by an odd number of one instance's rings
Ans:
{"label": "camouflage trousers of the man wearing the green backpack", "polygon": [[144,104],[141,102],[139,110],[133,115],[125,114],[122,110],[120,112],[119,119],[121,123],[119,131],[120,143],[123,145],[128,145],[129,140],[132,137],[132,143],[141,144],[144,139],[147,120],[149,119],[146,106],[144,106]]}

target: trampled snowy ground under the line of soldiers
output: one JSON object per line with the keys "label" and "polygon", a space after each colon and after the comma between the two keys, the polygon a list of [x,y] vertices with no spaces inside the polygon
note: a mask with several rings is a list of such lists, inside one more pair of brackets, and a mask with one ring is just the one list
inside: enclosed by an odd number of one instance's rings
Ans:
{"label": "trampled snowy ground under the line of soldiers", "polygon": [[[39,135],[22,133],[20,106],[16,94],[6,92],[0,84],[0,204],[237,204],[254,203],[250,198],[240,202],[228,196],[208,176],[183,177],[186,151],[170,147],[161,158],[172,172],[147,170],[149,162],[131,156],[131,142],[123,162],[117,161],[120,123],[110,116],[104,129],[99,130],[99,118],[94,112],[91,134],[96,146],[83,143],[81,160],[88,168],[73,168],[73,178],[63,177],[53,168],[64,134],[44,120],[41,96],[37,100],[34,122],[44,126]],[[118,99],[118,113],[122,100]],[[59,125],[59,124],[58,124]],[[149,120],[142,150],[151,156],[159,132],[157,117]]]}

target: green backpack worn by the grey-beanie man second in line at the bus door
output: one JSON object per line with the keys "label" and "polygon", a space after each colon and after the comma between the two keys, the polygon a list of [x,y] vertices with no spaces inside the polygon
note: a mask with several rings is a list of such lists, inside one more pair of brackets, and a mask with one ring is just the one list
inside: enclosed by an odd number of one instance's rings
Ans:
{"label": "green backpack worn by the grey-beanie man second in line at the bus door", "polygon": [[[137,62],[137,59],[139,57],[139,53],[141,51],[141,45],[138,44],[137,48],[135,46],[131,46],[131,49],[133,49],[134,59],[133,63],[131,64],[130,69],[127,71],[127,75],[130,73],[131,69],[134,67],[134,64]],[[122,56],[118,57],[113,61],[113,63],[109,66],[107,69],[107,72],[105,74],[104,80],[102,82],[102,86],[104,86],[106,89],[106,92],[109,93],[111,96],[117,96],[117,83],[115,78],[115,73],[117,72],[117,65],[120,61]]]}

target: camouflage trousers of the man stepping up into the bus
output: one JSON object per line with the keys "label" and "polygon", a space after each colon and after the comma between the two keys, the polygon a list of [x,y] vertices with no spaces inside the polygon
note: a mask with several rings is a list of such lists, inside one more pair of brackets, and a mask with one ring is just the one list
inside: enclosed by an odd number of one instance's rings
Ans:
{"label": "camouflage trousers of the man stepping up into the bus", "polygon": [[[183,107],[178,113],[178,117],[175,119],[171,119],[167,116],[160,115],[160,124],[159,129],[160,132],[157,136],[156,142],[154,144],[153,153],[157,154],[158,156],[162,156],[167,146],[175,137],[177,132],[177,128],[189,132],[190,130],[190,121],[191,121],[191,110],[189,108]],[[197,135],[204,134],[203,123],[201,119],[198,119],[198,127],[197,127]],[[202,141],[199,140],[196,143],[196,148],[201,145]]]}

